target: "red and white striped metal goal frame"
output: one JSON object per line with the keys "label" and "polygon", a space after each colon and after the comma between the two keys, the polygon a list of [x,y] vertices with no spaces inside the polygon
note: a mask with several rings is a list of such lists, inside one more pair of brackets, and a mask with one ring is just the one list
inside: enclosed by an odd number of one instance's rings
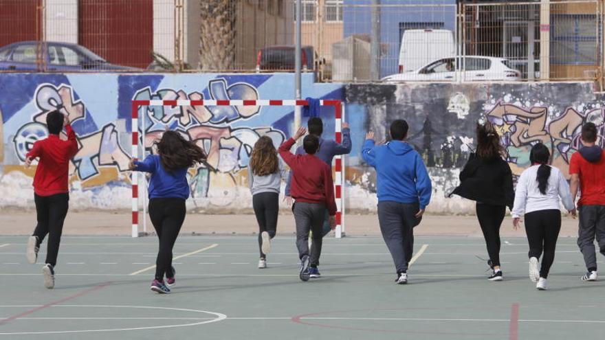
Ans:
{"label": "red and white striped metal goal frame", "polygon": [[[133,100],[132,101],[132,151],[133,158],[139,155],[139,109],[142,106],[308,106],[307,100]],[[335,119],[335,139],[342,143],[342,121],[344,107],[341,100],[320,100],[320,106],[332,106]],[[144,121],[143,121],[144,124]],[[145,126],[143,126],[145,128]],[[143,157],[145,148],[143,150]],[[336,197],[336,238],[344,236],[344,157],[337,155],[332,162],[335,170],[334,195]],[[145,183],[143,181],[143,183]],[[132,237],[139,236],[139,173],[131,174],[132,185]],[[145,184],[144,184],[145,185]],[[145,218],[145,216],[143,216]]]}

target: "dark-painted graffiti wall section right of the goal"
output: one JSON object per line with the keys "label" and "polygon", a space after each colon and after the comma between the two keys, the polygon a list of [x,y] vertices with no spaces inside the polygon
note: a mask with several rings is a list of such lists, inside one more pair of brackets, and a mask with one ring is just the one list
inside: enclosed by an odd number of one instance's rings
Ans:
{"label": "dark-painted graffiti wall section right of the goal", "polygon": [[[386,138],[393,120],[408,121],[408,141],[421,153],[433,181],[432,212],[474,211],[471,202],[447,196],[474,150],[476,122],[496,125],[517,176],[529,166],[529,150],[537,142],[549,146],[553,165],[568,174],[584,122],[599,126],[599,143],[605,146],[603,98],[588,83],[348,85],[345,96],[347,112],[366,115],[366,129],[377,139]],[[352,185],[372,192],[373,171],[359,158],[350,164]]]}

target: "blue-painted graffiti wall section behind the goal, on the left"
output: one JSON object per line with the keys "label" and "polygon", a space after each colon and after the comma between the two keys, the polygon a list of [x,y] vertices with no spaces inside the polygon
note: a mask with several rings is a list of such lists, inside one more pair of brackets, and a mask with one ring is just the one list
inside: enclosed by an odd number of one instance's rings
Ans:
{"label": "blue-painted graffiti wall section behind the goal, on the left", "polygon": [[[315,84],[303,77],[305,95],[342,99],[339,84]],[[131,101],[292,99],[292,75],[0,75],[2,144],[0,206],[31,206],[34,169],[23,161],[35,141],[47,137],[45,117],[59,109],[72,121],[78,153],[69,177],[72,207],[129,207]],[[322,109],[326,131],[334,131],[334,113]],[[149,106],[139,111],[140,145],[153,152],[153,141],[167,129],[179,131],[208,153],[208,162],[190,170],[191,207],[247,209],[248,161],[254,143],[268,135],[278,146],[292,134],[292,106]],[[329,122],[331,120],[331,122]],[[65,136],[63,136],[65,137]],[[139,152],[142,157],[142,150]],[[6,190],[6,191],[5,191]]]}

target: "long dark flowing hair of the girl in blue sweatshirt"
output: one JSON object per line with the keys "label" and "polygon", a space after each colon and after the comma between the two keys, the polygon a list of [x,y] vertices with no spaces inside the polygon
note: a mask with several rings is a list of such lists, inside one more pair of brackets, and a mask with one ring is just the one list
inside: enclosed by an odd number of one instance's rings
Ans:
{"label": "long dark flowing hair of the girl in blue sweatshirt", "polygon": [[154,144],[157,146],[159,160],[168,172],[190,168],[206,161],[206,152],[176,131],[166,131],[162,139],[156,140]]}

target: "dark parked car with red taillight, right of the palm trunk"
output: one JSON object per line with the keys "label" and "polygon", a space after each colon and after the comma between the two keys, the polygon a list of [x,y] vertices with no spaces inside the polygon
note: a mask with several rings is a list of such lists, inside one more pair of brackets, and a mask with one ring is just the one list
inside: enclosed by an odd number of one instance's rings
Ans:
{"label": "dark parked car with red taillight, right of the palm trunk", "polygon": [[[268,46],[259,49],[256,54],[256,71],[293,71],[294,46]],[[315,54],[313,46],[303,46],[301,65],[304,71],[311,71],[315,67]]]}

